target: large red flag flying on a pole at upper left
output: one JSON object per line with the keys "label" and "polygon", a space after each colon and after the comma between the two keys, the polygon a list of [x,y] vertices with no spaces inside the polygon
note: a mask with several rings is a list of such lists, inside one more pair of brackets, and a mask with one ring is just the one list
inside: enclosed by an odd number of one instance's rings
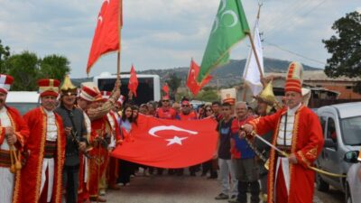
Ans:
{"label": "large red flag flying on a pole at upper left", "polygon": [[89,52],[87,73],[101,55],[119,51],[120,29],[123,25],[121,6],[122,0],[103,1],[97,15],[97,28]]}

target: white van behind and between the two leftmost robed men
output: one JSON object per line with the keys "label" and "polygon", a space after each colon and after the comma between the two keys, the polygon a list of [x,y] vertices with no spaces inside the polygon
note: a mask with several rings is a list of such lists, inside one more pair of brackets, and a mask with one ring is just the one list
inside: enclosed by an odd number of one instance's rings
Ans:
{"label": "white van behind and between the two leftmost robed men", "polygon": [[6,105],[15,107],[21,115],[40,105],[39,93],[36,91],[9,91]]}

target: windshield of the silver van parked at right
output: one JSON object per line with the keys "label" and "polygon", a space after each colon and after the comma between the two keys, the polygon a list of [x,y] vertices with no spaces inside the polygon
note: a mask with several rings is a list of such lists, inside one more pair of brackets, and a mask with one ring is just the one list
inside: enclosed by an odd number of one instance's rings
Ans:
{"label": "windshield of the silver van parked at right", "polygon": [[361,145],[361,115],[341,119],[342,134],[347,145]]}

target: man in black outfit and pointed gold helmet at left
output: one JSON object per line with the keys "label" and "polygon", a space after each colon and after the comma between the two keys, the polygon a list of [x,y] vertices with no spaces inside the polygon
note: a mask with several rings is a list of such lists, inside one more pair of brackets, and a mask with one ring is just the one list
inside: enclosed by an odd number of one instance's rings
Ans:
{"label": "man in black outfit and pointed gold helmet at left", "polygon": [[64,131],[67,134],[65,163],[63,169],[63,188],[67,203],[78,202],[79,189],[79,152],[87,147],[87,128],[83,111],[75,106],[77,88],[65,76],[60,87],[60,106],[55,112],[61,116]]}

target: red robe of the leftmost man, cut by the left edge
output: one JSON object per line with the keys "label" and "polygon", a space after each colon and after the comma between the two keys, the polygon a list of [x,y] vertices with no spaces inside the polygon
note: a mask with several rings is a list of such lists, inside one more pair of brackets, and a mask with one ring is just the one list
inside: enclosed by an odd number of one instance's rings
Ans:
{"label": "red robe of the leftmost man, cut by the left edge", "polygon": [[[10,122],[14,128],[14,134],[16,135],[17,142],[14,144],[15,148],[19,151],[23,151],[23,145],[29,136],[29,129],[23,120],[22,115],[19,111],[13,107],[5,106],[7,110],[7,115],[9,116]],[[5,127],[0,125],[0,145],[5,141]],[[14,179],[14,193],[13,193],[13,202],[18,202],[20,196],[20,180],[21,172],[18,171],[15,174]]]}

